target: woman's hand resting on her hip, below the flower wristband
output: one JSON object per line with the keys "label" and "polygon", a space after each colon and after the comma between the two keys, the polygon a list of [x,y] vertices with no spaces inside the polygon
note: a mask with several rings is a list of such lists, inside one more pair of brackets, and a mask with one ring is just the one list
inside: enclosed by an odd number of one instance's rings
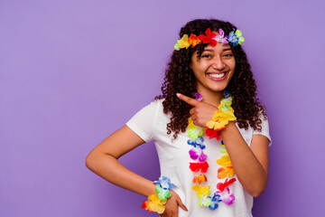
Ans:
{"label": "woman's hand resting on her hip, below the flower wristband", "polygon": [[172,196],[167,200],[167,203],[165,204],[165,211],[160,215],[161,217],[178,217],[179,206],[184,211],[188,211],[188,209],[181,202],[180,196],[172,190],[170,190],[170,193],[172,193]]}

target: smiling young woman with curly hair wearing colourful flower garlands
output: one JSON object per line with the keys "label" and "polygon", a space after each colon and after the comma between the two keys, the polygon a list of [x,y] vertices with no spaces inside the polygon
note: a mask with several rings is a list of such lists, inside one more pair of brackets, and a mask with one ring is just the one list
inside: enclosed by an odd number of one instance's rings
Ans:
{"label": "smiling young woman with curly hair wearing colourful flower garlands", "polygon": [[[163,95],[92,150],[86,164],[112,184],[149,196],[161,216],[252,216],[265,191],[271,139],[236,26],[194,20],[181,28]],[[117,159],[153,140],[161,178]]]}

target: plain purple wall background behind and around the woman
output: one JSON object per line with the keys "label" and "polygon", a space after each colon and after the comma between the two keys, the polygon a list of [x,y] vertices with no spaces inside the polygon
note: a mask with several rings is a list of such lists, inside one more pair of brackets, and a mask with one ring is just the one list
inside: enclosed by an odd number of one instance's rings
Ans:
{"label": "plain purple wall background behind and around the woman", "polygon": [[[221,18],[269,117],[269,184],[255,216],[325,212],[323,1],[1,0],[0,216],[156,216],[85,166],[88,152],[160,93],[183,24]],[[159,176],[153,143],[121,162]]]}

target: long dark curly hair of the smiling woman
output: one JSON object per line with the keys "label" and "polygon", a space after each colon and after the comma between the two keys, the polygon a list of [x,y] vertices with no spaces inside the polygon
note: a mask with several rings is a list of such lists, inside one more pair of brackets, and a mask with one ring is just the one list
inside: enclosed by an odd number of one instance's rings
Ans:
{"label": "long dark curly hair of the smiling woman", "polygon": [[[236,31],[237,27],[228,22],[220,20],[198,19],[190,21],[181,28],[180,38],[184,34],[200,35],[207,29],[212,32],[218,32],[222,29],[225,35]],[[198,44],[194,48],[181,49],[173,51],[171,61],[168,63],[163,80],[162,95],[155,99],[163,100],[163,112],[171,114],[171,122],[167,124],[167,134],[174,132],[173,137],[181,132],[185,132],[190,118],[191,106],[181,99],[178,99],[176,93],[180,92],[190,98],[195,98],[196,78],[194,72],[190,69],[191,56],[197,52],[198,57],[208,44]],[[233,46],[229,43],[236,59],[236,68],[233,77],[228,83],[227,89],[233,96],[233,109],[237,117],[237,124],[240,128],[247,129],[249,126],[255,130],[261,131],[261,114],[266,118],[265,110],[256,98],[256,85],[253,79],[253,72],[247,61],[246,53],[241,46]]]}

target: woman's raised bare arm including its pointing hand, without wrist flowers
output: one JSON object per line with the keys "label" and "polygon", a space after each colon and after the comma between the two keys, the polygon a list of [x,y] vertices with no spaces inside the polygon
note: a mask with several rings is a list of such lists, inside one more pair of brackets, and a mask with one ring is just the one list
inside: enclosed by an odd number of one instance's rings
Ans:
{"label": "woman's raised bare arm including its pointing hand, without wrist flowers", "polygon": [[[218,109],[184,95],[178,97],[194,107],[190,109],[190,115],[196,126],[206,127],[205,124]],[[220,134],[239,182],[247,193],[254,197],[259,196],[265,191],[268,178],[267,137],[254,135],[251,146],[247,146],[234,122],[229,122],[226,129],[220,131]]]}

